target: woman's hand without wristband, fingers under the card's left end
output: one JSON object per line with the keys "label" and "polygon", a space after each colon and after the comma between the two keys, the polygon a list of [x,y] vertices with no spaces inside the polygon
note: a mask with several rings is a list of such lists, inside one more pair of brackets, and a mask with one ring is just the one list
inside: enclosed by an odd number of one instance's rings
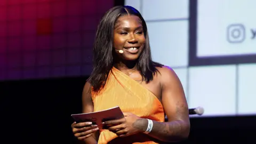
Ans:
{"label": "woman's hand without wristband, fingers under the card's left end", "polygon": [[75,137],[78,140],[84,140],[99,130],[98,125],[92,125],[92,122],[83,122],[83,123],[76,123],[74,122],[72,125],[72,131]]}

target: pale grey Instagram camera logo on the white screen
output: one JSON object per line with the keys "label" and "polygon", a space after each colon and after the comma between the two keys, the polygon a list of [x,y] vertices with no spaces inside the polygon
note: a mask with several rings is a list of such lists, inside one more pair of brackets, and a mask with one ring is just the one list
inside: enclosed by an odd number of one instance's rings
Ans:
{"label": "pale grey Instagram camera logo on the white screen", "polygon": [[242,43],[245,39],[245,27],[242,24],[231,24],[227,27],[229,43]]}

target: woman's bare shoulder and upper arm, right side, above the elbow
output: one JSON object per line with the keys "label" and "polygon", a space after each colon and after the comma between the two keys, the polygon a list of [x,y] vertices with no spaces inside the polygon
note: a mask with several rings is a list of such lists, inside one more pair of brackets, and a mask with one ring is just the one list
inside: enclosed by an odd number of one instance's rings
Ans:
{"label": "woman's bare shoulder and upper arm, right side, above the elbow", "polygon": [[174,70],[170,67],[163,66],[158,68],[160,83],[162,88],[162,104],[169,121],[181,119],[189,122],[188,104],[185,93]]}

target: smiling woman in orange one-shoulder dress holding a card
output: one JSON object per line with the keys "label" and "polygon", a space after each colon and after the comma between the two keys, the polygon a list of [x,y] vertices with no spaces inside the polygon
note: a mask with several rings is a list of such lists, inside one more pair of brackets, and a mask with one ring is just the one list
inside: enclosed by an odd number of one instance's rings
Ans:
{"label": "smiling woman in orange one-shoulder dress holding a card", "polygon": [[99,23],[93,53],[93,71],[83,90],[83,113],[119,106],[125,117],[104,122],[107,129],[103,130],[91,122],[73,123],[79,140],[161,143],[188,137],[182,85],[171,68],[151,60],[146,22],[138,10],[115,6],[107,11]]}

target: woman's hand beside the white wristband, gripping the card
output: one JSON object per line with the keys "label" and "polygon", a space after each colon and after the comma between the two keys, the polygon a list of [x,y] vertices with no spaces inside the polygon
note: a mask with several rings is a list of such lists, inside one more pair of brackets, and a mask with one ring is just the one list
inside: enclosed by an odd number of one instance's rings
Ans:
{"label": "woman's hand beside the white wristband, gripping the card", "polygon": [[[126,137],[131,134],[145,132],[148,121],[140,118],[132,113],[123,113],[124,118],[103,122],[102,124],[109,126],[108,130],[116,133],[119,137]],[[145,128],[146,127],[146,128]]]}

